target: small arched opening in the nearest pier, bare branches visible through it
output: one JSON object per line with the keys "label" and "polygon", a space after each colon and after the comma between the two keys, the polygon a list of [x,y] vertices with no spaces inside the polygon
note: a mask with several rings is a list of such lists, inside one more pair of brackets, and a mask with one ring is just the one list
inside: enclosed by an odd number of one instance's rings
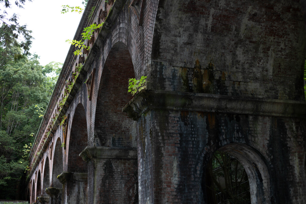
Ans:
{"label": "small arched opening in the nearest pier, bare branches visible through it", "polygon": [[216,151],[206,167],[207,203],[250,204],[250,185],[241,163],[232,155]]}

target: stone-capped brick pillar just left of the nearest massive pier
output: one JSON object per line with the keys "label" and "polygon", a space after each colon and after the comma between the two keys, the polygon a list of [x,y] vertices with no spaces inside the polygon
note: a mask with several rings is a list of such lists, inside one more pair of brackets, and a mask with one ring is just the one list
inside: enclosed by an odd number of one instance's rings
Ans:
{"label": "stone-capped brick pillar just left of the nearest massive pier", "polygon": [[135,149],[86,147],[80,156],[88,162],[88,204],[138,200]]}

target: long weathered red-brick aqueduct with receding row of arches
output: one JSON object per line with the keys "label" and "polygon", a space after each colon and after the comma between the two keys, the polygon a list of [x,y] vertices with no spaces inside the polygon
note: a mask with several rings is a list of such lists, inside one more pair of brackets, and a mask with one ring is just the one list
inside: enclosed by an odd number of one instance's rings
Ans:
{"label": "long weathered red-brick aqueduct with receding row of arches", "polygon": [[[304,203],[304,7],[89,0],[75,39],[104,25],[84,56],[69,50],[30,152],[24,198],[207,203],[206,166],[221,150],[246,170],[252,204]],[[149,82],[133,97],[128,79],[141,76]]]}

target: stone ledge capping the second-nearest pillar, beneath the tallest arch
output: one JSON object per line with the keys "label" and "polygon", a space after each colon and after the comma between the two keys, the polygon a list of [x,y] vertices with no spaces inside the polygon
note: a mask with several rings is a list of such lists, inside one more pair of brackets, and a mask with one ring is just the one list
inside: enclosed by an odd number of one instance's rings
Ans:
{"label": "stone ledge capping the second-nearest pillar, beneath the tallest arch", "polygon": [[91,159],[137,159],[135,148],[129,147],[86,147],[80,155],[86,162]]}

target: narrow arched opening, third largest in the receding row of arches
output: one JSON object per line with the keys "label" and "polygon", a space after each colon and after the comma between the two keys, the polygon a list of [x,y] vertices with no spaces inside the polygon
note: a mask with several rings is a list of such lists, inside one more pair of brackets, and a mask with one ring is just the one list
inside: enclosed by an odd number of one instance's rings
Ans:
{"label": "narrow arched opening, third largest in the receding row of arches", "polygon": [[58,138],[55,144],[53,165],[52,165],[52,187],[61,188],[62,184],[57,176],[63,172],[63,150],[61,139]]}

